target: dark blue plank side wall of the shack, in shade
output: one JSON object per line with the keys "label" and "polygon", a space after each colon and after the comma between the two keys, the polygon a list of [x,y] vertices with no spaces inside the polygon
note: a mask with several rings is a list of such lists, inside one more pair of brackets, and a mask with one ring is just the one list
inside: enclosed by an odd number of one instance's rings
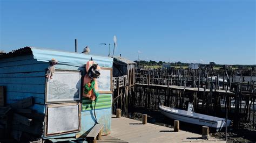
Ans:
{"label": "dark blue plank side wall of the shack, in shade", "polygon": [[48,63],[38,62],[33,55],[0,59],[0,85],[6,87],[6,103],[34,97],[32,109],[44,113],[45,69]]}

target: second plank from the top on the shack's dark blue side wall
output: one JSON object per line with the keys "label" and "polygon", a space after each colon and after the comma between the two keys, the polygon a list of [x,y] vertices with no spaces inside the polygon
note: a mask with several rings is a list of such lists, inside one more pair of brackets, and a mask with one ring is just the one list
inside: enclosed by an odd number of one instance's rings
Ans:
{"label": "second plank from the top on the shack's dark blue side wall", "polygon": [[0,74],[45,71],[45,69],[48,68],[48,66],[49,66],[49,63],[39,63],[39,64],[31,64],[31,65],[3,67],[3,68],[0,68]]}

